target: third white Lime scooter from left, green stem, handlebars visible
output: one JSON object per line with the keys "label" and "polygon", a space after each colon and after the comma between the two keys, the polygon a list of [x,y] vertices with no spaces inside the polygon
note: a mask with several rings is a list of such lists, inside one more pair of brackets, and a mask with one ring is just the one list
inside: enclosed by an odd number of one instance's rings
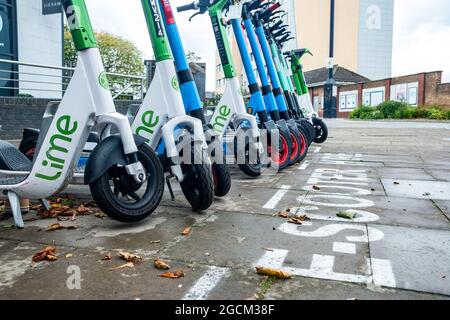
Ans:
{"label": "third white Lime scooter from left, green stem, handlebars visible", "polygon": [[[223,13],[229,5],[228,0],[200,0],[185,6],[178,7],[179,12],[196,10],[192,17],[198,14],[209,13],[213,31],[219,50],[219,56],[226,78],[224,94],[215,108],[209,125],[226,140],[228,128],[234,128],[232,140],[234,141],[234,154],[238,160],[242,172],[251,177],[261,175],[263,167],[262,157],[264,148],[260,142],[260,132],[256,118],[247,113],[244,99],[240,90],[239,80],[234,70],[233,56],[231,55],[230,43],[228,41],[225,25],[223,24]],[[264,111],[265,112],[265,111]],[[268,117],[262,111],[259,113],[260,120],[265,122],[265,128],[276,131],[275,124],[268,122]],[[270,148],[270,147],[269,147]],[[276,157],[272,157],[276,158]]]}

